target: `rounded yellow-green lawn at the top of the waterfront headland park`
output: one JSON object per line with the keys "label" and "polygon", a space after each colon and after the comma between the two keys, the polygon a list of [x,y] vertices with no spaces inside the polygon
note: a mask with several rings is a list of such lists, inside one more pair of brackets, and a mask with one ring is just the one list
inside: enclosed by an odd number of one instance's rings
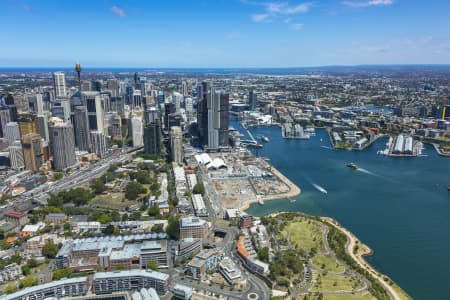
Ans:
{"label": "rounded yellow-green lawn at the top of the waterfront headland park", "polygon": [[287,237],[288,232],[289,242],[297,245],[298,249],[306,252],[312,248],[316,248],[318,252],[324,251],[324,231],[316,222],[309,220],[290,222],[286,225],[283,235]]}

